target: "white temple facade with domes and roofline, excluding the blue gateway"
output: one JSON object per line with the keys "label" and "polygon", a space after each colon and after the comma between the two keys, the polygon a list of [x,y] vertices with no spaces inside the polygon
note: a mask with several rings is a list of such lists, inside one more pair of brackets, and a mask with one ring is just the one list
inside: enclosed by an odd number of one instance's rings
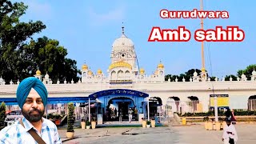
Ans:
{"label": "white temple facade with domes and roofline, excluding the blue gateway", "polygon": [[[137,90],[149,94],[151,101],[156,100],[159,104],[158,112],[163,114],[168,106],[172,112],[206,112],[212,107],[210,94],[227,94],[228,98],[222,107],[256,110],[256,102],[250,101],[256,95],[255,70],[251,74],[251,80],[242,74],[238,81],[216,78],[214,82],[210,82],[206,73],[198,74],[194,71],[190,82],[185,82],[184,78],[182,82],[178,82],[178,79],[174,82],[170,82],[170,79],[165,81],[165,66],[162,62],[156,66],[154,74],[146,74],[143,68],[138,68],[134,42],[127,38],[123,30],[121,37],[114,40],[112,45],[107,73],[103,74],[100,69],[94,73],[88,65],[82,66],[82,76],[77,83],[54,83],[48,74],[42,78],[40,70],[34,77],[46,84],[50,98],[87,97],[98,91],[111,89]],[[18,83],[5,83],[1,77],[0,98],[15,98]]]}

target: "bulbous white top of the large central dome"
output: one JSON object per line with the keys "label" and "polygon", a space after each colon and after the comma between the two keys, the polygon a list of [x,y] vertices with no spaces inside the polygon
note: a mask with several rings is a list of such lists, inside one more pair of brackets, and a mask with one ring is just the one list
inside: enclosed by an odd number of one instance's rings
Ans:
{"label": "bulbous white top of the large central dome", "polygon": [[134,42],[127,38],[125,34],[122,34],[120,38],[117,38],[113,42],[113,50],[134,50]]}

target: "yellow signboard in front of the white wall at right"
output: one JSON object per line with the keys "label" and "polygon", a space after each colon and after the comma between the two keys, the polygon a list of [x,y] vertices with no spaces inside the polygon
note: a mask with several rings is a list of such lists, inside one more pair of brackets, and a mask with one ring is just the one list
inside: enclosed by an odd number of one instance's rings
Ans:
{"label": "yellow signboard in front of the white wall at right", "polygon": [[214,107],[214,97],[217,97],[218,107],[230,106],[230,98],[228,94],[210,94],[210,107]]}

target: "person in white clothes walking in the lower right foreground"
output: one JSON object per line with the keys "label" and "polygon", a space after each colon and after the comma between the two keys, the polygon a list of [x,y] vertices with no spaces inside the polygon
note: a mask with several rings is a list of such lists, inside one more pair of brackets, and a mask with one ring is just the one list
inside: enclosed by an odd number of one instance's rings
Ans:
{"label": "person in white clothes walking in the lower right foreground", "polygon": [[224,144],[236,144],[238,142],[237,131],[229,119],[226,120],[226,126],[224,127],[222,134],[222,141]]}

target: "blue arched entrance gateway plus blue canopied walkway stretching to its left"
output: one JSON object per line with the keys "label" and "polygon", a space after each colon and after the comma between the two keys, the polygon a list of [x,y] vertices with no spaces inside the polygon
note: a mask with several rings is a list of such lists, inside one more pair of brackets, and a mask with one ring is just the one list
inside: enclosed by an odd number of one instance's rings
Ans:
{"label": "blue arched entrance gateway plus blue canopied walkway stretching to its left", "polygon": [[[95,119],[98,124],[118,122],[119,114],[122,112],[122,122],[128,122],[128,110],[131,108],[134,111],[132,121],[138,122],[142,118],[148,118],[148,98],[149,94],[128,89],[102,90],[87,97],[50,97],[46,106],[46,115],[50,113],[67,114],[66,104],[74,102],[78,119],[81,119],[82,115],[84,118],[89,118],[90,114],[90,120]],[[16,98],[0,98],[0,101],[5,102],[9,110],[20,110]],[[150,118],[155,118],[156,115],[159,115],[158,109],[161,109],[162,100],[152,97],[149,101]]]}

